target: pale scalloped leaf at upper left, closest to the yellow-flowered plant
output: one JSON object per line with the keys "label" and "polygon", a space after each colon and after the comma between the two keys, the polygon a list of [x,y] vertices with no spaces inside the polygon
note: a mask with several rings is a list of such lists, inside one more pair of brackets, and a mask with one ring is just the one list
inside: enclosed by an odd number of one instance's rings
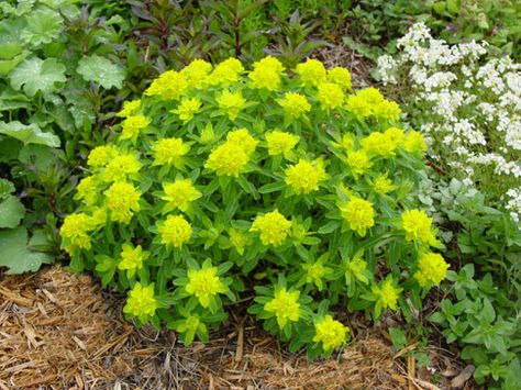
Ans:
{"label": "pale scalloped leaf at upper left, closest to the yellow-flowered plant", "polygon": [[86,81],[93,81],[106,89],[122,88],[125,79],[124,69],[97,55],[81,58],[76,70]]}

